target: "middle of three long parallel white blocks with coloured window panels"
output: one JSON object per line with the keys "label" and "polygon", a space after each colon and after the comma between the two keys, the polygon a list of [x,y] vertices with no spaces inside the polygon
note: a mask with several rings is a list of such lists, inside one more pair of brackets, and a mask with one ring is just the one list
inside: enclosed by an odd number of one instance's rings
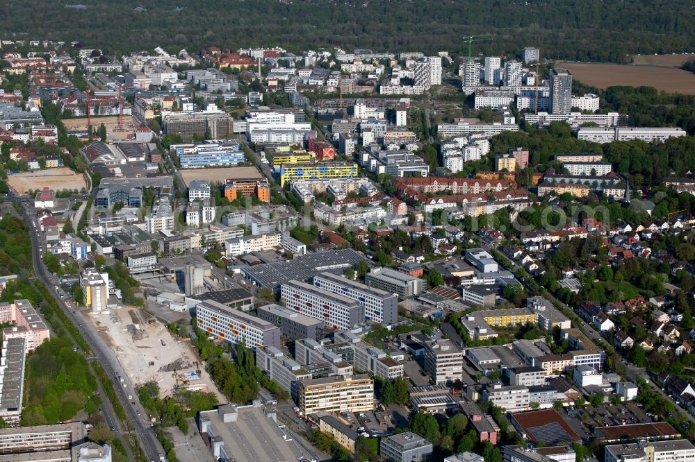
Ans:
{"label": "middle of three long parallel white blocks with coloured window panels", "polygon": [[364,307],[358,302],[305,282],[282,284],[281,299],[289,309],[320,319],[333,329],[350,329],[364,320]]}

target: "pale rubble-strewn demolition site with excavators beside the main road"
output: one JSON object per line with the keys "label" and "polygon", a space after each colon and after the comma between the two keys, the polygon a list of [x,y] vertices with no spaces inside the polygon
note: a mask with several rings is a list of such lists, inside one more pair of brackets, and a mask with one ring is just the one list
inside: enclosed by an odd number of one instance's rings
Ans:
{"label": "pale rubble-strewn demolition site with excavators beside the main road", "polygon": [[85,318],[113,349],[133,384],[154,381],[159,386],[160,397],[183,387],[215,393],[224,402],[188,339],[175,338],[154,316],[141,309],[124,307]]}

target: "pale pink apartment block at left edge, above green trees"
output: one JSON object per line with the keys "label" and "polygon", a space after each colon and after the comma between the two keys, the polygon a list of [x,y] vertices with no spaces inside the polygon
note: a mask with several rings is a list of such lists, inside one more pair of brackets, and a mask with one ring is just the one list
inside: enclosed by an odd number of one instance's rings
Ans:
{"label": "pale pink apartment block at left edge, above green trees", "polygon": [[27,353],[51,336],[48,326],[28,300],[15,300],[11,305],[1,303],[0,323],[11,324],[2,330],[3,340],[21,337]]}

